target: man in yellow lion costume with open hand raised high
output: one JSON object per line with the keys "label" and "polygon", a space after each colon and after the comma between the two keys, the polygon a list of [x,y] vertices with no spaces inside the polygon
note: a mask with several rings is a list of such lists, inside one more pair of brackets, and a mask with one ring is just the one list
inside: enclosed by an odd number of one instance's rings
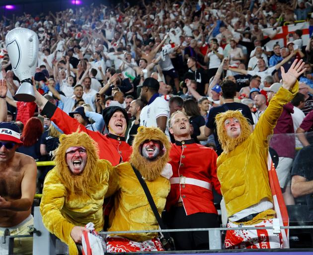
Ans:
{"label": "man in yellow lion costume with open hand raised high", "polygon": [[[238,111],[228,111],[216,117],[224,149],[217,160],[217,175],[230,228],[237,228],[239,224],[244,227],[273,226],[271,219],[275,217],[275,211],[265,163],[268,157],[267,136],[273,132],[283,105],[297,93],[297,78],[304,72],[300,71],[301,65],[301,60],[299,63],[295,61],[287,73],[282,70],[283,87],[270,101],[252,133],[247,120]],[[238,155],[244,156],[238,160]],[[262,239],[255,230],[228,230],[225,245],[228,249],[270,249],[281,248],[281,240],[272,230],[263,232]]]}

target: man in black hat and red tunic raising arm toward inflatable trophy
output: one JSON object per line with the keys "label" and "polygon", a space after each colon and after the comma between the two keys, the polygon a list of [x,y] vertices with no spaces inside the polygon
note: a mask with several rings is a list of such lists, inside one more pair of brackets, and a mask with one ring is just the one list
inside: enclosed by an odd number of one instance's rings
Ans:
{"label": "man in black hat and red tunic raising arm toward inflatable trophy", "polygon": [[86,132],[99,145],[99,158],[107,159],[111,164],[117,165],[128,161],[132,153],[131,146],[125,141],[125,131],[127,129],[128,116],[126,111],[117,106],[106,108],[103,111],[103,119],[109,131],[108,134],[101,134],[86,129],[77,120],[71,118],[65,112],[57,108],[35,90],[36,101],[41,114],[51,119],[65,134],[76,132],[77,129]]}

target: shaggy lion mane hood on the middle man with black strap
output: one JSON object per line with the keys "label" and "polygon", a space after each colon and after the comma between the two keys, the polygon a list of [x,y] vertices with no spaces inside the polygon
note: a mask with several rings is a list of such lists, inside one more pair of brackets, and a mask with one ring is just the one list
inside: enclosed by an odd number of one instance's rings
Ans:
{"label": "shaggy lion mane hood on the middle man with black strap", "polygon": [[[151,161],[141,154],[144,141],[157,140],[161,143],[160,151],[163,153],[157,159]],[[141,175],[149,181],[155,180],[169,160],[170,143],[167,136],[159,128],[139,127],[133,141],[133,152],[129,162],[138,169]]]}

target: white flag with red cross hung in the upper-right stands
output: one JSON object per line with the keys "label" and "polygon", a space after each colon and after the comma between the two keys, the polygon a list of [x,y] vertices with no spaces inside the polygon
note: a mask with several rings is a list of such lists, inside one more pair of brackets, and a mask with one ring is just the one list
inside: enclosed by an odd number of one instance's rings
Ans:
{"label": "white flag with red cross hung in the upper-right stands", "polygon": [[[310,34],[309,34],[309,22],[295,23],[288,26],[279,26],[276,28],[278,33],[275,37],[265,44],[268,50],[273,50],[273,46],[278,43],[281,47],[285,47],[287,44],[287,35],[293,34],[297,29],[302,30],[302,40],[303,46],[308,44]],[[273,28],[264,28],[262,29],[264,37],[267,35],[273,34],[275,30]]]}

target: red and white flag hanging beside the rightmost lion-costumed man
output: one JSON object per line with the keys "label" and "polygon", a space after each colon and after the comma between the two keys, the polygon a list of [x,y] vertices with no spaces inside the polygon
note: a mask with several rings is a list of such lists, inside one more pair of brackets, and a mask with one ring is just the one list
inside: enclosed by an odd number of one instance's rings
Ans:
{"label": "red and white flag hanging beside the rightmost lion-costumed man", "polygon": [[[283,194],[279,185],[274,163],[269,153],[267,157],[267,168],[268,168],[268,177],[269,177],[270,187],[272,190],[274,209],[276,211],[276,217],[279,219],[280,226],[287,227],[289,226],[289,216],[288,216],[287,208],[286,208],[285,201],[283,198]],[[282,229],[281,234],[283,238],[282,248],[288,249],[289,248],[289,230]]]}

